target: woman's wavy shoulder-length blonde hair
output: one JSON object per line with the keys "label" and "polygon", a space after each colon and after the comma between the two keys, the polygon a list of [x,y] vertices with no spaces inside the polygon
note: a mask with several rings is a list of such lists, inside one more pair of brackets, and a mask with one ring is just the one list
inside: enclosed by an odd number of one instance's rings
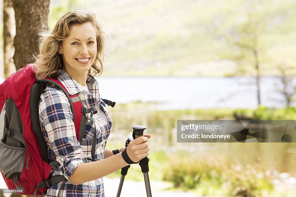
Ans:
{"label": "woman's wavy shoulder-length blonde hair", "polygon": [[63,66],[62,55],[58,53],[62,41],[70,34],[73,24],[90,22],[96,30],[97,55],[89,74],[98,76],[102,74],[104,62],[105,33],[96,22],[96,15],[92,12],[71,11],[64,14],[55,24],[51,32],[41,32],[39,35],[39,54],[36,57],[34,71],[36,78],[54,78]]}

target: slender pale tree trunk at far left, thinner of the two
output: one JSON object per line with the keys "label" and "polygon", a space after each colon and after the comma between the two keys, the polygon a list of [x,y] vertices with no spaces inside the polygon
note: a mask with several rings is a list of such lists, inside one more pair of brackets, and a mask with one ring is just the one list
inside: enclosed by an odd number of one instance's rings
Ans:
{"label": "slender pale tree trunk at far left, thinner of the two", "polygon": [[4,39],[4,77],[15,72],[15,64],[12,61],[15,48],[13,47],[13,38],[15,36],[15,12],[10,0],[3,2],[3,39]]}

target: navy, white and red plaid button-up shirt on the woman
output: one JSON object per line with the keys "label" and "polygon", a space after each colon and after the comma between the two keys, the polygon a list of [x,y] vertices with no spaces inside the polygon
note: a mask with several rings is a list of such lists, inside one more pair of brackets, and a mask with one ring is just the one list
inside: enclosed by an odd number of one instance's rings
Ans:
{"label": "navy, white and red plaid button-up shirt on the woman", "polygon": [[73,185],[69,180],[69,177],[79,164],[91,162],[87,158],[91,158],[94,124],[97,133],[95,158],[104,159],[105,146],[112,123],[106,105],[100,98],[98,82],[88,75],[86,84],[89,92],[87,92],[62,70],[57,74],[57,79],[66,87],[70,95],[78,94],[84,107],[94,107],[96,103],[101,105],[109,124],[98,114],[93,115],[93,122],[90,114],[87,114],[88,121],[86,121],[83,139],[81,142],[77,141],[72,120],[73,114],[66,95],[58,87],[54,87],[53,84],[47,84],[39,103],[41,131],[48,146],[50,163],[57,159],[61,165],[60,167],[54,167],[50,174],[52,178],[64,175],[68,181],[52,185],[48,188],[46,196],[57,196],[60,189],[60,196],[103,197],[102,178],[81,185]]}

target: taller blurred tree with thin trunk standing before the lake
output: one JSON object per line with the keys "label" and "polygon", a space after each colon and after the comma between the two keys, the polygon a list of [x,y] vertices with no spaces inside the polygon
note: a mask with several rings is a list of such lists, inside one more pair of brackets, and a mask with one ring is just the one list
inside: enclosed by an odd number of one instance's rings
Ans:
{"label": "taller blurred tree with thin trunk standing before the lake", "polygon": [[[230,50],[224,56],[232,61],[237,62],[242,67],[241,71],[246,72],[246,68],[255,69],[257,101],[261,104],[260,99],[260,55],[265,51],[264,46],[260,43],[260,36],[265,27],[263,20],[255,15],[249,14],[248,18],[242,24],[231,29],[227,35],[227,42]],[[249,69],[250,70],[250,69]],[[245,73],[243,73],[245,74]]]}

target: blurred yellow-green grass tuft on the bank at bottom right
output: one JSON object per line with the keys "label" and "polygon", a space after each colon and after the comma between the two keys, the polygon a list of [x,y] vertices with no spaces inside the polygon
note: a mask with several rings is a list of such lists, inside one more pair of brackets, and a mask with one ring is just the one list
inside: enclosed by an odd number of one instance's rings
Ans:
{"label": "blurred yellow-green grass tuft on the bank at bottom right", "polygon": [[262,166],[231,165],[217,155],[173,158],[164,180],[184,190],[196,189],[202,195],[259,197],[274,189],[273,177],[265,175]]}

